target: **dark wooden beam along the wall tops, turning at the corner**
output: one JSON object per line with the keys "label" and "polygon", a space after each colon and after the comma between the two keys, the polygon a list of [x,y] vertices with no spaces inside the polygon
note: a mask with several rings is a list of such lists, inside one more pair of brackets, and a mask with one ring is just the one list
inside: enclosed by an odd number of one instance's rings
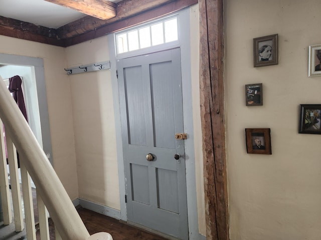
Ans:
{"label": "dark wooden beam along the wall tops, turning at the corner", "polygon": [[[0,16],[0,34],[57,46],[70,46],[196,4],[198,0],[123,0],[109,20],[85,16],[57,29]],[[144,6],[141,6],[144,5]]]}

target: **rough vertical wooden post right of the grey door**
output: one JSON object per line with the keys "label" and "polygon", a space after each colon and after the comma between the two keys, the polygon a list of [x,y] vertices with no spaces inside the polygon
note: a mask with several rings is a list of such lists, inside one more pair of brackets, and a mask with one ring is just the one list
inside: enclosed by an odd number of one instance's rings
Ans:
{"label": "rough vertical wooden post right of the grey door", "polygon": [[206,237],[207,240],[227,240],[223,0],[199,0],[199,11]]}

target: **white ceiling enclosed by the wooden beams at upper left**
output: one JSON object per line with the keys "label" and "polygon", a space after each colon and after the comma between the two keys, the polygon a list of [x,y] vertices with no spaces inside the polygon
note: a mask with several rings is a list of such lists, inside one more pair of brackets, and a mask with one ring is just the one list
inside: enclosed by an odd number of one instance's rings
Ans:
{"label": "white ceiling enclosed by the wooden beams at upper left", "polygon": [[86,15],[45,0],[0,0],[0,16],[58,28]]}

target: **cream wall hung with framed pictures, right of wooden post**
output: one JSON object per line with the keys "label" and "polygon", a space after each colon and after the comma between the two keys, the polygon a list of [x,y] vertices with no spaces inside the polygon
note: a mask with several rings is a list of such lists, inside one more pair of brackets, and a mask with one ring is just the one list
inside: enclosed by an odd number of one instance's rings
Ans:
{"label": "cream wall hung with framed pictures, right of wooden post", "polygon": [[[321,43],[316,0],[225,0],[230,238],[320,239],[321,136],[298,133],[298,106],[321,103],[308,46]],[[253,67],[252,39],[279,34],[279,64]],[[263,106],[245,84],[263,83]],[[248,154],[244,128],[271,128],[272,155]]]}

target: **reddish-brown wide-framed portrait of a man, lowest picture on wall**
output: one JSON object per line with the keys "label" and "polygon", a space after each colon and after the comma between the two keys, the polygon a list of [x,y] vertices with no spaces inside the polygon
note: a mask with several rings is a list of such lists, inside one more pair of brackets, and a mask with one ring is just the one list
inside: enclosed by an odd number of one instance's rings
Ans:
{"label": "reddish-brown wide-framed portrait of a man, lowest picture on wall", "polygon": [[270,128],[245,128],[247,153],[272,154]]}

